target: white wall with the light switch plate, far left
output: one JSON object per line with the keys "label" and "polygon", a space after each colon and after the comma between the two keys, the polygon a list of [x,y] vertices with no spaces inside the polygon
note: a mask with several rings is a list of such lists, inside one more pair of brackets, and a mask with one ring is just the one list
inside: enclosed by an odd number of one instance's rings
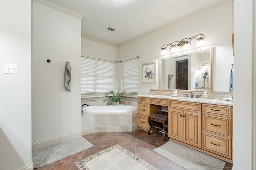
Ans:
{"label": "white wall with the light switch plate, far left", "polygon": [[[0,1],[0,169],[33,169],[31,160],[31,0]],[[4,63],[18,74],[4,74]]]}

